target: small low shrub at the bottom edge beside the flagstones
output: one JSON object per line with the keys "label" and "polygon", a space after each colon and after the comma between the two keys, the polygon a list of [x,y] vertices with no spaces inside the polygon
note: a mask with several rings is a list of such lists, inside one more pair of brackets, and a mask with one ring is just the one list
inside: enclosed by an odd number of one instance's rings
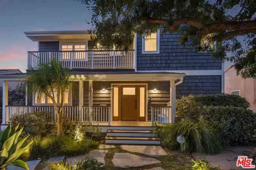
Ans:
{"label": "small low shrub at the bottom edge beside the flagstones", "polygon": [[86,157],[76,165],[76,170],[98,170],[102,169],[103,164],[94,158]]}

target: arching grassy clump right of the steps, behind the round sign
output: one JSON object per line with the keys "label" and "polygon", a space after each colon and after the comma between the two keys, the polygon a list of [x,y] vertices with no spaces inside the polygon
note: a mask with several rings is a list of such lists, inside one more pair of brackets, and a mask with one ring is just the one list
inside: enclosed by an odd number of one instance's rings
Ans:
{"label": "arching grassy clump right of the steps, behind the round sign", "polygon": [[[203,118],[198,121],[185,118],[178,123],[159,126],[157,129],[163,146],[180,149],[181,152],[216,154],[224,147],[222,136]],[[185,142],[178,143],[178,136],[183,136]]]}

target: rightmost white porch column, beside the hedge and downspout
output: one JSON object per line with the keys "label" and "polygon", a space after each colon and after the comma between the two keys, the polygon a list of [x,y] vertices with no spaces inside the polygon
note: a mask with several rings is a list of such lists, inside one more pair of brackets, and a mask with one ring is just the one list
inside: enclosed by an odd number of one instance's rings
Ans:
{"label": "rightmost white porch column, beside the hedge and downspout", "polygon": [[175,80],[170,81],[170,103],[171,103],[171,115],[169,116],[169,122],[175,122],[175,112],[176,112],[176,87],[175,87]]}

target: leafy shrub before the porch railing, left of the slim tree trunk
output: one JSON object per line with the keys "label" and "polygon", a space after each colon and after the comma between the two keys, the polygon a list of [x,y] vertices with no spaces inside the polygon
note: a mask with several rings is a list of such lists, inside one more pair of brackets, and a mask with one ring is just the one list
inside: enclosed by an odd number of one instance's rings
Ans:
{"label": "leafy shrub before the porch railing, left of the slim tree trunk", "polygon": [[51,133],[53,127],[48,125],[50,121],[49,112],[13,115],[10,118],[14,126],[18,124],[24,126],[24,133],[31,136],[45,136]]}

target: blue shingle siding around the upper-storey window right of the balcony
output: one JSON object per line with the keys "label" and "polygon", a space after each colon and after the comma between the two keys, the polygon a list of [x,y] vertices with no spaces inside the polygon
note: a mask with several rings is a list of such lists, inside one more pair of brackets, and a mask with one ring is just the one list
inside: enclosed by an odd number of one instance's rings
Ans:
{"label": "blue shingle siding around the upper-storey window right of the balcony", "polygon": [[221,70],[222,63],[211,53],[198,53],[187,42],[181,47],[181,34],[160,33],[160,53],[142,54],[142,37],[137,36],[137,70]]}

